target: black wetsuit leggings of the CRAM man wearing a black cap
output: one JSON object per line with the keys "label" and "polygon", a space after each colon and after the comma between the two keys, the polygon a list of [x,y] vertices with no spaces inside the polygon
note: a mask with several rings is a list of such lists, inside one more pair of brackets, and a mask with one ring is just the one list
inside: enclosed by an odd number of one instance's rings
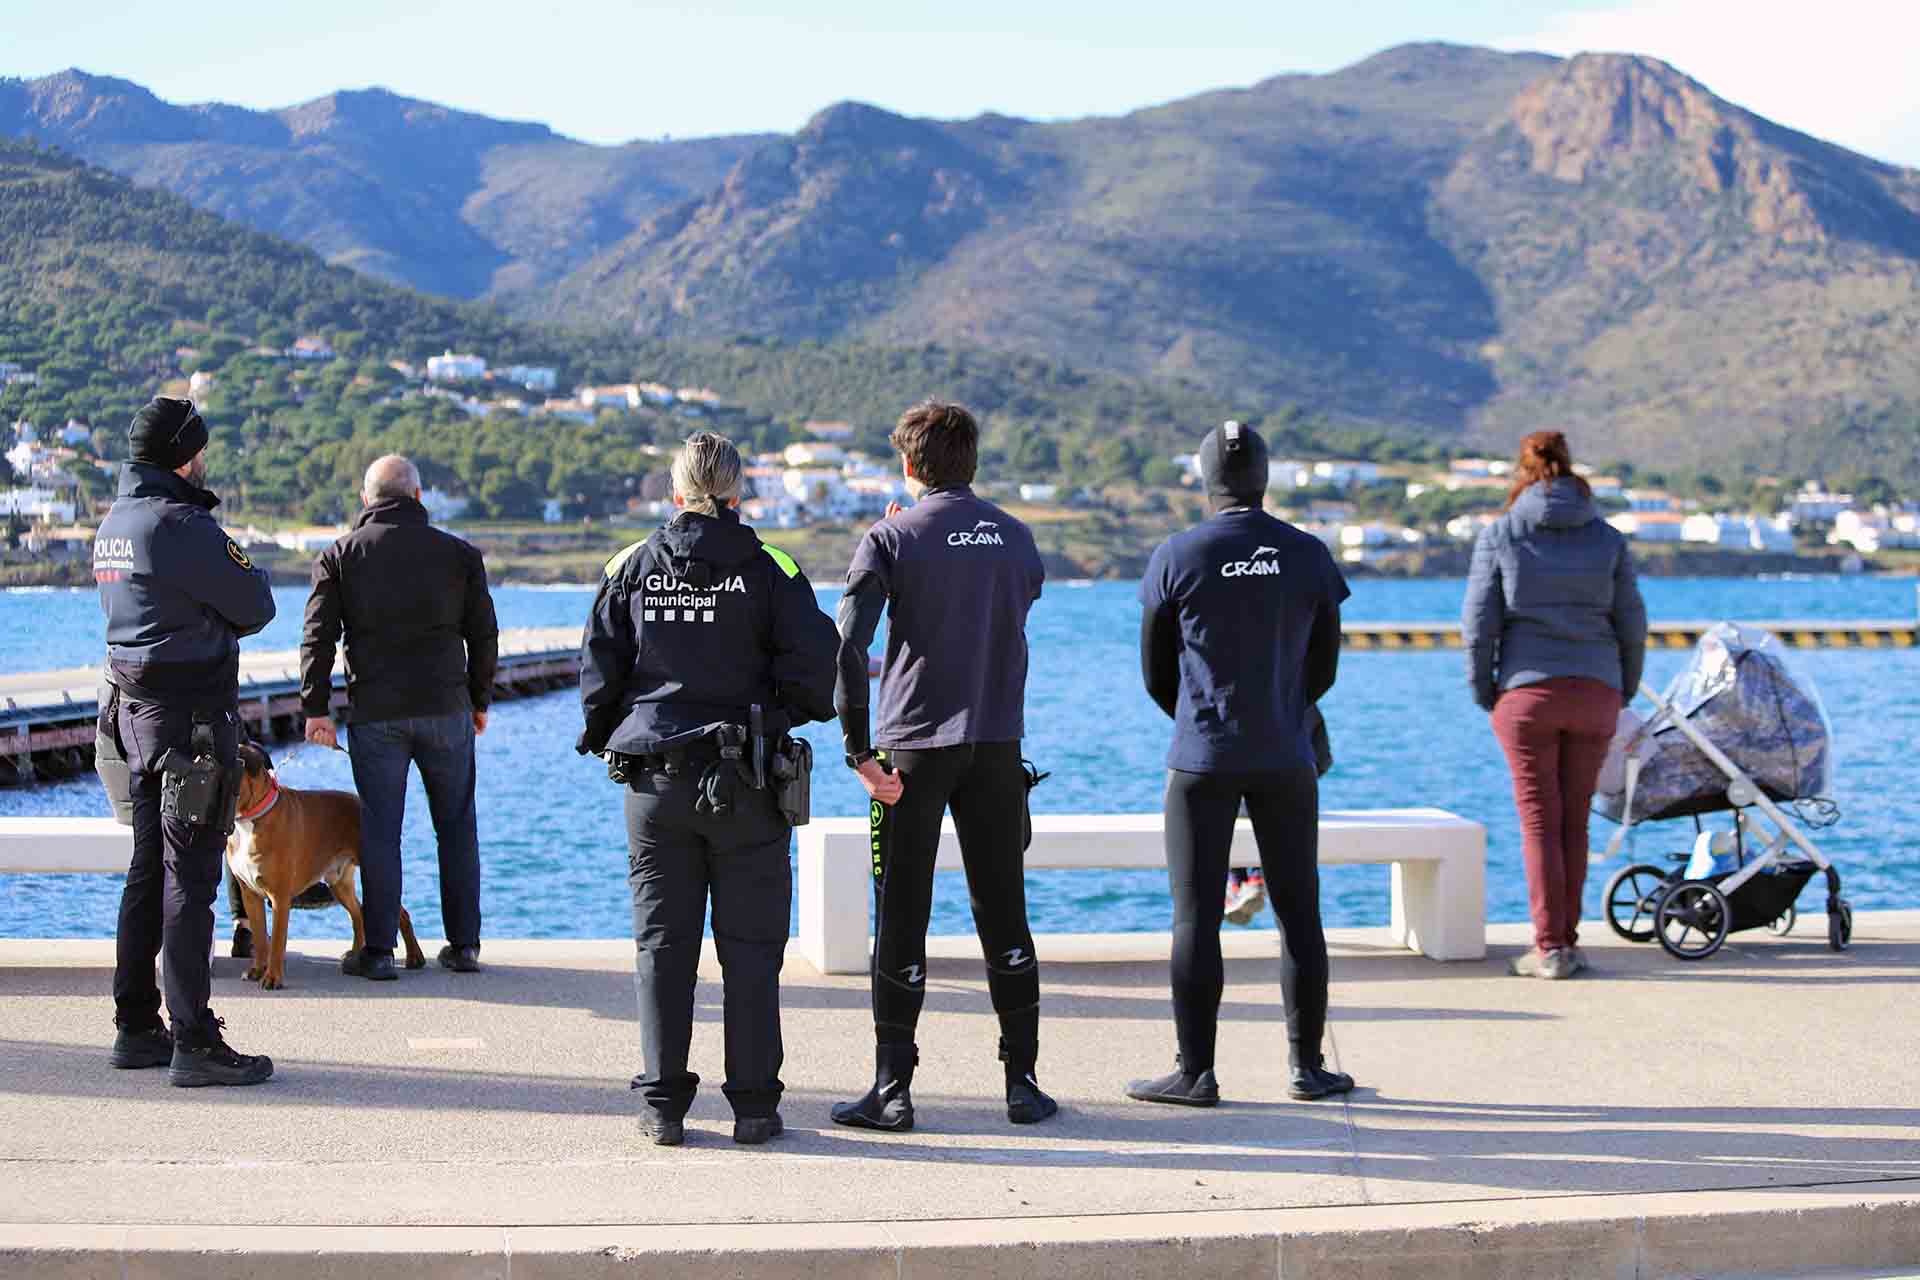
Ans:
{"label": "black wetsuit leggings of the CRAM man wearing a black cap", "polygon": [[1327,935],[1319,915],[1319,777],[1167,771],[1167,879],[1173,887],[1173,1027],[1183,1071],[1213,1069],[1219,921],[1240,802],[1254,821],[1267,900],[1281,925],[1281,1000],[1296,1061],[1317,1063],[1327,1029]]}

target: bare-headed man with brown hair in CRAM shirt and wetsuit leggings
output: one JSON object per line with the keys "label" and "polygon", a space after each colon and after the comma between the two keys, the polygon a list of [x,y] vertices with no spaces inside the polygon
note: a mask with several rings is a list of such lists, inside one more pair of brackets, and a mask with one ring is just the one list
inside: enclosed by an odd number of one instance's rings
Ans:
{"label": "bare-headed man with brown hair in CRAM shirt and wetsuit leggings", "polygon": [[[1044,572],[1033,533],[973,495],[979,426],[960,405],[925,401],[893,432],[910,510],[887,509],[847,570],[839,604],[835,708],[847,766],[872,796],[874,1088],[833,1107],[856,1128],[914,1126],[927,917],[941,818],[952,810],[987,988],[1000,1017],[1006,1119],[1033,1125],[1060,1107],[1035,1079],[1041,973],[1027,929],[1027,610]],[[868,723],[866,652],[887,614],[879,723]]]}

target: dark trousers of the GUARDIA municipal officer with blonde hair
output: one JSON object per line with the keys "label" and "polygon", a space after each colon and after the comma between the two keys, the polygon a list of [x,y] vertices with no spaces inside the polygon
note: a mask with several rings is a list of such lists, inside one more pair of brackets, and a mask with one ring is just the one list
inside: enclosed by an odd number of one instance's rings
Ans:
{"label": "dark trousers of the GUARDIA municipal officer with blonde hair", "polygon": [[639,773],[626,793],[626,881],[634,894],[634,996],[641,1071],[634,1088],[680,1119],[701,1079],[687,1071],[701,923],[712,894],[714,950],[726,992],[726,1084],[737,1117],[772,1115],[780,1065],[780,965],[793,912],[791,827],[772,791],[735,785],[733,808],[697,814],[695,766]]}

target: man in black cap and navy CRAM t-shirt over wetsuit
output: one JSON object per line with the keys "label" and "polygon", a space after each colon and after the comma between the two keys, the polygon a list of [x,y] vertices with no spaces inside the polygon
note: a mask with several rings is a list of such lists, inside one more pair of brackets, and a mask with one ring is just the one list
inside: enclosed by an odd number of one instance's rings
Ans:
{"label": "man in black cap and navy CRAM t-shirt over wetsuit", "polygon": [[1215,514],[1164,541],[1140,581],[1146,691],[1173,718],[1165,839],[1179,1063],[1171,1075],[1135,1080],[1127,1096],[1188,1107],[1219,1102],[1221,890],[1242,802],[1281,927],[1288,1094],[1344,1094],[1354,1079],[1321,1059],[1327,936],[1311,712],[1332,689],[1348,589],[1317,537],[1261,510],[1267,447],[1252,428],[1227,422],[1210,432],[1200,472]]}

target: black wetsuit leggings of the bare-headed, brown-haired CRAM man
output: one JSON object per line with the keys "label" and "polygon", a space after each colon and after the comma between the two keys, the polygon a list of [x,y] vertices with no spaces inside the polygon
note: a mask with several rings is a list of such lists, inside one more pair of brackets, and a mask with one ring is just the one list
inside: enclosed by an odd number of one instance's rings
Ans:
{"label": "black wetsuit leggings of the bare-headed, brown-haired CRAM man", "polygon": [[952,808],[1000,1034],[1016,1054],[1031,1052],[1041,1021],[1041,967],[1027,929],[1027,773],[1020,743],[966,743],[883,756],[899,770],[904,791],[891,808],[872,804],[876,1036],[881,1044],[910,1042],[920,1025],[927,996],[933,860],[941,818]]}

